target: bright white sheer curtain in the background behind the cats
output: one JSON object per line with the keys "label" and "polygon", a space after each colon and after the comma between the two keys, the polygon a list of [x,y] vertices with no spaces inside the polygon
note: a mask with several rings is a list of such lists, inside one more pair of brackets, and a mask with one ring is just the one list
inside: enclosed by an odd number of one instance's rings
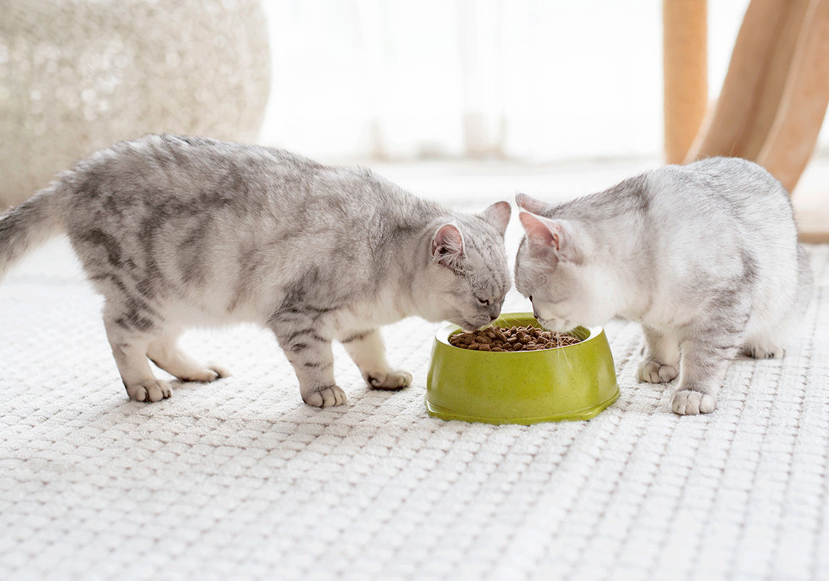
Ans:
{"label": "bright white sheer curtain in the background behind the cats", "polygon": [[[746,3],[711,2],[714,94]],[[262,141],[338,158],[657,156],[660,6],[265,2],[274,84]]]}

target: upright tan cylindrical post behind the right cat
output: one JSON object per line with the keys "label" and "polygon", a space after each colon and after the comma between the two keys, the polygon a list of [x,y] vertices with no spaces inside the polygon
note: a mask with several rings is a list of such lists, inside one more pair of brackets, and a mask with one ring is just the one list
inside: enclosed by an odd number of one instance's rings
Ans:
{"label": "upright tan cylindrical post behind the right cat", "polygon": [[708,103],[706,0],[662,0],[665,153],[681,163]]}

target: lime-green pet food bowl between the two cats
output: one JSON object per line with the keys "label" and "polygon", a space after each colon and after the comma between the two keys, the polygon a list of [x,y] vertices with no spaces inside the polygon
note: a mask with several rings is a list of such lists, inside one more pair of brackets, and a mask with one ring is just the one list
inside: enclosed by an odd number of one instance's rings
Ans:
{"label": "lime-green pet food bowl between the two cats", "polygon": [[[540,327],[529,312],[499,317],[497,327]],[[449,344],[457,325],[435,334],[426,409],[441,419],[536,424],[590,419],[619,396],[602,327],[576,327],[574,345],[539,351],[472,351]]]}

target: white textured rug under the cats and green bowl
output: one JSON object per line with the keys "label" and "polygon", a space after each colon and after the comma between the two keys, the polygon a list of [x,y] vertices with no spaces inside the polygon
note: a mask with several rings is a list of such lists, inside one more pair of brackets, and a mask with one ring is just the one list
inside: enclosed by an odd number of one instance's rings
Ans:
{"label": "white textured rug under the cats and green bowl", "polygon": [[0,579],[829,579],[827,246],[788,355],[734,361],[714,414],[638,384],[614,322],[618,402],[530,427],[429,418],[415,320],[385,329],[399,393],[338,349],[349,404],[311,409],[236,327],[185,337],[235,375],[129,402],[99,298],[44,252],[0,285]]}

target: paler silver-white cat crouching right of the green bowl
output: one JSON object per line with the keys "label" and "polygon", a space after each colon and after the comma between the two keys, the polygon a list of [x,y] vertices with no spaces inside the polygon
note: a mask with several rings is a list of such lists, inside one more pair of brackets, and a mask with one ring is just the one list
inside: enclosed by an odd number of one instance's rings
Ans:
{"label": "paler silver-white cat crouching right of the green bowl", "polygon": [[550,329],[642,323],[638,378],[673,380],[677,414],[715,409],[727,361],[783,355],[812,271],[788,193],[763,167],[714,157],[550,206],[519,194],[516,287]]}

